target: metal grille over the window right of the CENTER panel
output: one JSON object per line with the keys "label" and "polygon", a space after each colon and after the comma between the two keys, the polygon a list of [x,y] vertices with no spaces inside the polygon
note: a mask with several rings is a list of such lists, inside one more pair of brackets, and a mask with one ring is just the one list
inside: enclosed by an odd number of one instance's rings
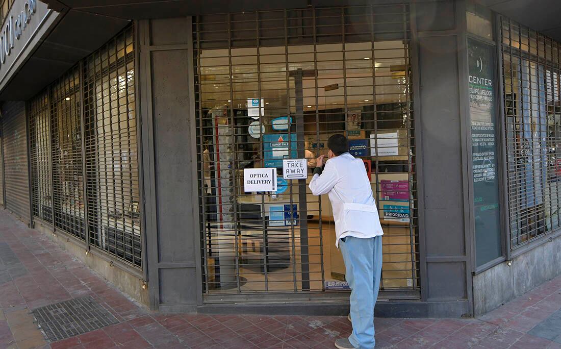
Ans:
{"label": "metal grille over the window right of the CENTER panel", "polygon": [[503,50],[511,245],[559,228],[561,45],[507,18]]}

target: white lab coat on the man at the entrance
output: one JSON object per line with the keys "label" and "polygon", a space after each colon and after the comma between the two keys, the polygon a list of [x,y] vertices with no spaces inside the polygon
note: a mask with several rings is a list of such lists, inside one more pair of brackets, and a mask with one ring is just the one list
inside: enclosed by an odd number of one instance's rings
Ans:
{"label": "white lab coat on the man at the entrance", "polygon": [[329,159],[321,174],[310,181],[314,195],[329,194],[335,219],[335,246],[346,236],[369,238],[384,235],[372,187],[361,159],[344,153]]}

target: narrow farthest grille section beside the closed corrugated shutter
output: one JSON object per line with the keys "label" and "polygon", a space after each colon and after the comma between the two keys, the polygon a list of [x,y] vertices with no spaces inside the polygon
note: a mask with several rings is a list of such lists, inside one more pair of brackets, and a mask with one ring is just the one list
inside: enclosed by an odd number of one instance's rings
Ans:
{"label": "narrow farthest grille section beside the closed corrugated shutter", "polygon": [[29,165],[33,217],[53,222],[50,177],[50,108],[45,91],[29,103]]}

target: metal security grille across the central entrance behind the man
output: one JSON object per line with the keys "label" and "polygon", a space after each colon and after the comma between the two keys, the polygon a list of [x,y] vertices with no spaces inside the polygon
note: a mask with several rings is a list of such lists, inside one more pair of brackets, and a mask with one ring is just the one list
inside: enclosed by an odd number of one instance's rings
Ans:
{"label": "metal security grille across the central entrance behind the man", "polygon": [[[415,132],[405,4],[194,19],[204,292],[344,288],[327,196],[307,185],[327,140],[364,160],[384,227],[382,290],[419,293]],[[307,180],[283,180],[307,158]],[[243,170],[277,168],[277,191]]]}

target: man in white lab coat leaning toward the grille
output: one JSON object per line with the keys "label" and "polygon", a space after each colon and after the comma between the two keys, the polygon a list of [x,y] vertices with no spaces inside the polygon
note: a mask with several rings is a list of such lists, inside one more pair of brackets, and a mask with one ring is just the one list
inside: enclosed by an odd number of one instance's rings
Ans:
{"label": "man in white lab coat leaning toward the grille", "polygon": [[372,349],[374,305],[378,299],[383,235],[370,181],[361,159],[348,153],[347,137],[333,135],[329,152],[316,160],[310,190],[329,194],[335,219],[335,246],[341,249],[345,278],[351,288],[352,333],[335,341],[339,349]]}

